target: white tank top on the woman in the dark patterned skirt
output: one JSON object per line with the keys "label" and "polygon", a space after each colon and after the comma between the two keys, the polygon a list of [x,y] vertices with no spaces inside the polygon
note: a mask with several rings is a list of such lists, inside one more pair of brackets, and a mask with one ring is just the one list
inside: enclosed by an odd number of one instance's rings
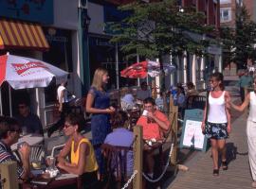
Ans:
{"label": "white tank top on the woman in the dark patterned skirt", "polygon": [[227,114],[225,109],[225,91],[220,97],[214,98],[209,95],[208,121],[215,124],[227,123]]}

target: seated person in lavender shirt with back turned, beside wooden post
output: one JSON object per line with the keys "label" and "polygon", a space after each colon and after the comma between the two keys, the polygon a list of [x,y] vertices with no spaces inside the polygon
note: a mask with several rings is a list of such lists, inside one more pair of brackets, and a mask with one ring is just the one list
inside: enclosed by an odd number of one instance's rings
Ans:
{"label": "seated person in lavender shirt with back turned, beside wooden post", "polygon": [[[131,147],[133,144],[134,134],[132,131],[127,129],[129,126],[127,112],[119,111],[115,113],[112,120],[112,127],[114,130],[106,136],[104,144]],[[127,153],[126,161],[127,176],[131,176],[133,174],[134,166],[134,153],[132,150]]]}

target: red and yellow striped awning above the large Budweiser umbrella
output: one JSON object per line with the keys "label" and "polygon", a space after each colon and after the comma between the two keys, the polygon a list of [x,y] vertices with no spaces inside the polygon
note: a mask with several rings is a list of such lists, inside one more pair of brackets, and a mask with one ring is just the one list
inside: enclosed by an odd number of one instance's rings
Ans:
{"label": "red and yellow striped awning above the large Budweiser umbrella", "polygon": [[47,50],[49,44],[42,27],[22,21],[0,20],[0,49],[16,48]]}

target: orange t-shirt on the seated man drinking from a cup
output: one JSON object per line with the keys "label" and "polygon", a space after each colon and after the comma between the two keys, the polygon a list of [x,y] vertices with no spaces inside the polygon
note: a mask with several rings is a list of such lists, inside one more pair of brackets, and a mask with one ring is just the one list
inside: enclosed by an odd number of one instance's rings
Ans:
{"label": "orange t-shirt on the seated man drinking from a cup", "polygon": [[[155,117],[162,122],[165,122],[170,127],[170,122],[167,116],[159,111],[154,112]],[[137,120],[137,125],[141,126],[143,129],[143,139],[161,139],[162,133],[157,123],[151,122],[148,123],[148,118],[146,116],[140,116]]]}

